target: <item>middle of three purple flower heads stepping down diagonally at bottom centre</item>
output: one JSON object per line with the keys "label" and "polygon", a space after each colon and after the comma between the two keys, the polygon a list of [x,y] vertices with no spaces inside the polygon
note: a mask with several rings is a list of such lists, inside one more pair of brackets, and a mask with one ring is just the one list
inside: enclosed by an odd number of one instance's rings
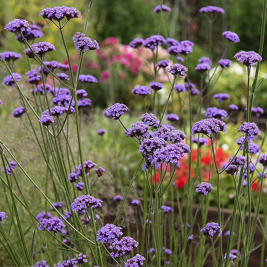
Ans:
{"label": "middle of three purple flower heads stepping down diagonally at bottom centre", "polygon": [[120,241],[114,242],[109,246],[109,248],[112,250],[110,255],[113,258],[130,255],[132,250],[138,245],[139,243],[132,237],[124,236]]}

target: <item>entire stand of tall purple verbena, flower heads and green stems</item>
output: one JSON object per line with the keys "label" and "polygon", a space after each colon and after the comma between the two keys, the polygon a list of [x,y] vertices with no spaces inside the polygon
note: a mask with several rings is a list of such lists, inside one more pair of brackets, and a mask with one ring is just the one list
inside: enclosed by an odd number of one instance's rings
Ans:
{"label": "entire stand of tall purple verbena, flower heads and green stems", "polygon": [[[136,38],[130,46],[139,51],[141,46],[151,50],[153,54],[153,65],[147,62],[149,69],[154,77],[154,81],[150,82],[149,87],[145,85],[138,85],[132,93],[139,95],[143,99],[143,114],[140,114],[140,121],[131,124],[130,128],[126,128],[120,117],[127,112],[128,107],[125,104],[116,103],[109,107],[104,113],[107,117],[112,117],[118,120],[125,129],[126,136],[133,139],[133,142],[139,146],[140,163],[131,180],[128,189],[125,189],[124,196],[116,196],[114,201],[120,201],[121,205],[116,214],[113,223],[104,224],[104,214],[100,213],[100,208],[103,201],[95,198],[92,195],[97,195],[97,190],[94,190],[94,185],[98,178],[101,177],[105,171],[104,168],[98,167],[91,160],[84,161],[82,153],[82,142],[80,134],[80,117],[84,107],[90,106],[91,101],[86,98],[87,92],[83,89],[77,90],[78,82],[93,83],[98,82],[95,77],[90,74],[81,74],[81,67],[84,54],[89,50],[99,49],[96,40],[86,36],[86,28],[90,14],[90,7],[85,19],[85,27],[83,32],[77,32],[73,36],[74,45],[79,51],[77,62],[77,71],[74,74],[71,67],[70,55],[66,42],[64,39],[63,28],[67,28],[67,23],[71,23],[71,19],[81,18],[81,14],[73,7],[53,7],[45,8],[40,12],[40,16],[44,19],[50,20],[58,28],[61,36],[63,47],[66,51],[68,64],[58,63],[57,61],[45,61],[46,53],[54,51],[55,47],[49,42],[39,42],[29,44],[37,37],[43,34],[38,25],[29,25],[28,21],[21,19],[14,19],[7,23],[5,29],[17,34],[17,39],[25,46],[23,51],[27,55],[29,71],[26,75],[29,77],[28,83],[32,84],[33,97],[28,98],[18,81],[21,78],[20,74],[12,72],[14,61],[21,57],[18,53],[4,52],[0,53],[2,63],[7,68],[9,75],[4,78],[4,84],[13,86],[18,89],[23,106],[17,108],[13,112],[13,117],[22,117],[26,114],[29,119],[30,127],[36,138],[39,151],[47,166],[47,178],[50,179],[53,186],[53,199],[57,202],[52,203],[48,196],[47,185],[45,192],[41,190],[37,182],[35,182],[23,169],[20,162],[15,158],[8,147],[0,140],[0,154],[3,164],[3,173],[0,175],[3,188],[9,190],[10,198],[7,197],[7,209],[9,209],[9,218],[6,219],[6,212],[0,212],[0,220],[10,220],[12,214],[15,214],[15,219],[11,221],[11,225],[15,226],[17,244],[10,239],[10,229],[4,223],[0,223],[0,242],[6,250],[9,259],[14,266],[85,266],[99,265],[101,267],[110,264],[125,267],[137,266],[157,266],[174,265],[174,266],[204,266],[207,256],[212,254],[213,263],[215,266],[248,266],[249,255],[260,246],[254,246],[253,240],[257,224],[266,236],[266,219],[261,222],[259,220],[261,195],[263,191],[263,178],[266,176],[265,167],[267,165],[267,155],[259,154],[260,146],[252,142],[256,136],[260,134],[258,126],[251,122],[252,114],[260,114],[262,110],[252,107],[253,98],[259,85],[257,85],[257,77],[259,73],[262,48],[264,25],[266,16],[266,3],[264,1],[262,31],[260,40],[259,53],[254,51],[237,53],[234,58],[243,63],[247,67],[247,116],[246,122],[242,123],[238,128],[244,136],[237,139],[236,142],[240,145],[236,153],[229,158],[220,170],[216,159],[216,145],[215,136],[217,139],[220,134],[226,133],[227,125],[222,119],[228,116],[223,109],[210,107],[207,109],[205,116],[202,119],[203,100],[209,96],[212,88],[216,84],[223,69],[231,66],[231,61],[224,59],[224,55],[231,42],[239,42],[239,37],[236,33],[226,31],[222,35],[228,40],[225,50],[222,53],[222,59],[218,62],[215,69],[211,70],[212,57],[212,23],[218,15],[224,12],[219,7],[203,7],[200,12],[206,15],[209,22],[209,55],[210,58],[202,57],[199,59],[199,64],[196,70],[201,74],[200,90],[195,88],[191,82],[188,70],[188,54],[193,52],[193,43],[185,40],[178,42],[175,39],[165,39],[161,35],[153,35],[145,40]],[[154,9],[154,12],[159,14],[159,27],[164,26],[164,12],[169,12],[170,8],[164,5],[159,5]],[[184,62],[185,65],[174,63],[169,66],[168,60],[158,62],[158,47],[161,44],[168,46],[167,53],[173,55],[174,60]],[[181,57],[181,55],[183,57]],[[40,67],[38,70],[31,69],[31,61],[34,60]],[[250,85],[250,70],[251,66],[257,63],[256,73],[252,85]],[[61,69],[63,72],[54,73],[55,69]],[[216,80],[211,84],[212,78],[216,75],[217,68],[221,68]],[[160,70],[166,71],[170,82],[170,92],[166,104],[161,111],[161,105],[158,101],[159,90],[164,86],[157,81],[158,72]],[[64,72],[68,71],[70,77]],[[211,71],[213,71],[211,73]],[[209,75],[206,75],[209,74]],[[50,84],[47,78],[48,75],[52,77]],[[167,75],[167,74],[166,74]],[[185,84],[176,84],[177,77],[185,77]],[[206,83],[204,78],[207,77]],[[173,79],[173,81],[171,81]],[[67,81],[71,85],[68,85]],[[60,83],[60,87],[56,88],[56,83]],[[164,125],[163,118],[165,118],[168,109],[169,101],[172,93],[175,90],[179,97],[180,109],[183,118],[183,130],[174,130],[172,125]],[[153,92],[152,99],[149,104],[145,101],[145,97]],[[183,95],[187,94],[187,97]],[[53,96],[50,99],[50,96]],[[229,98],[226,93],[215,94],[219,102]],[[50,107],[51,101],[56,104],[55,107]],[[2,104],[2,101],[0,101]],[[192,112],[193,105],[197,104],[197,112]],[[185,108],[186,107],[186,108]],[[231,110],[238,107],[232,104]],[[184,114],[188,110],[188,116]],[[169,110],[169,109],[168,109]],[[153,113],[148,113],[152,111]],[[32,118],[32,113],[34,119]],[[75,113],[76,134],[78,141],[79,162],[76,162],[73,148],[69,143],[69,117]],[[158,115],[156,116],[155,113]],[[61,116],[63,115],[64,116]],[[64,117],[61,119],[61,117]],[[166,119],[175,123],[179,117],[175,114],[166,115]],[[201,120],[202,119],[202,120]],[[220,120],[219,120],[220,119]],[[195,122],[197,120],[197,122]],[[188,121],[188,123],[187,123]],[[37,125],[37,123],[39,124]],[[38,131],[37,132],[37,126]],[[153,127],[153,128],[150,128]],[[185,132],[189,133],[186,135]],[[154,129],[154,130],[153,130]],[[122,129],[123,130],[123,129]],[[222,132],[222,133],[220,133]],[[104,129],[98,134],[105,134]],[[195,135],[193,137],[193,135]],[[202,135],[206,136],[203,137]],[[126,138],[126,137],[125,137]],[[127,137],[128,138],[128,137]],[[187,140],[182,142],[183,140]],[[212,153],[210,158],[209,175],[205,179],[202,176],[203,168],[201,166],[201,147],[210,142]],[[197,164],[195,174],[192,173],[192,143],[196,143],[197,149]],[[263,142],[262,142],[263,143]],[[242,155],[238,155],[243,150]],[[255,154],[257,160],[252,160],[252,155]],[[182,216],[183,206],[180,203],[179,191],[173,186],[173,177],[175,171],[179,168],[180,161],[187,155],[188,158],[188,186],[185,193],[186,206],[184,208],[185,215]],[[9,160],[12,161],[9,162]],[[64,160],[67,159],[67,160]],[[212,162],[216,170],[216,177],[212,175]],[[80,164],[77,164],[80,163]],[[257,163],[263,166],[262,172],[258,170]],[[77,166],[78,165],[78,166]],[[47,211],[35,215],[31,212],[32,203],[28,201],[23,188],[20,186],[18,177],[15,174],[15,166],[18,166],[21,171],[28,178],[29,182],[36,187],[39,194],[45,198],[47,204],[51,206],[53,212],[57,217],[53,217]],[[120,214],[124,208],[125,201],[130,193],[134,180],[143,170],[143,196],[142,199],[133,199],[131,204],[139,206],[140,218],[136,220],[136,239],[130,236],[123,236],[122,228],[123,220]],[[231,217],[228,218],[230,222],[229,239],[227,247],[222,247],[222,230],[227,223],[222,222],[221,204],[220,204],[220,175],[223,172],[233,177],[235,187],[235,202]],[[239,172],[238,172],[239,171]],[[259,198],[255,198],[251,192],[251,185],[255,182],[254,175],[259,174]],[[82,182],[79,182],[79,177],[82,177]],[[217,178],[217,179],[216,179]],[[47,179],[47,181],[48,181]],[[14,182],[17,190],[14,190]],[[198,183],[198,185],[197,185]],[[213,185],[212,185],[212,184]],[[215,188],[214,188],[214,187]],[[123,189],[123,188],[122,188]],[[107,188],[108,190],[108,188]],[[212,190],[216,190],[217,194],[217,208],[218,218],[214,218],[216,222],[207,222],[207,214],[209,207],[209,194]],[[80,196],[78,192],[81,192]],[[164,204],[164,196],[170,194],[171,206]],[[193,214],[193,194],[200,194],[201,199]],[[175,196],[176,195],[176,196]],[[175,201],[176,200],[176,201]],[[62,212],[62,203],[68,207],[68,210]],[[177,202],[179,216],[174,217],[174,202]],[[202,204],[203,203],[203,204]],[[46,205],[47,205],[46,204]],[[255,216],[252,220],[252,204],[255,206]],[[204,207],[203,207],[204,205]],[[21,206],[26,209],[31,219],[29,225],[22,225],[21,223]],[[198,211],[202,207],[201,228],[202,234],[194,236],[192,234],[193,226],[196,221]],[[237,209],[239,211],[239,220],[236,218]],[[244,215],[249,213],[248,224],[245,225]],[[125,212],[127,214],[127,211]],[[266,209],[264,211],[266,217]],[[101,219],[100,219],[101,218]],[[140,219],[140,220],[139,220]],[[127,220],[127,217],[126,217]],[[140,223],[140,230],[139,230]],[[126,222],[128,233],[131,235],[131,227],[129,221]],[[180,225],[180,228],[177,225]],[[7,228],[5,229],[4,226]],[[32,231],[32,226],[35,230]],[[65,228],[66,227],[66,228]],[[9,228],[9,230],[8,230]],[[25,230],[27,228],[27,230]],[[45,231],[45,236],[42,231]],[[140,231],[140,233],[139,233]],[[234,240],[234,231],[239,231],[239,237]],[[27,244],[25,235],[32,232],[32,243]],[[37,232],[42,247],[46,253],[46,260],[39,259],[39,262],[34,264],[34,252],[36,246],[35,233]],[[123,236],[123,237],[122,237]],[[210,242],[206,243],[206,236],[209,237]],[[169,237],[169,238],[168,238]],[[168,238],[168,239],[167,239]],[[49,239],[49,240],[48,240]],[[193,253],[193,242],[190,240],[198,240],[198,251]],[[54,242],[59,245],[62,253],[61,262],[56,263],[58,255],[51,253],[50,243]],[[190,241],[190,242],[188,242]],[[218,242],[218,247],[214,247],[214,243]],[[266,240],[263,238],[263,244]],[[187,244],[188,243],[188,244]],[[190,243],[190,244],[189,244]],[[166,246],[169,246],[167,248]],[[136,254],[136,252],[138,252]],[[261,266],[263,266],[264,245],[261,252]]]}

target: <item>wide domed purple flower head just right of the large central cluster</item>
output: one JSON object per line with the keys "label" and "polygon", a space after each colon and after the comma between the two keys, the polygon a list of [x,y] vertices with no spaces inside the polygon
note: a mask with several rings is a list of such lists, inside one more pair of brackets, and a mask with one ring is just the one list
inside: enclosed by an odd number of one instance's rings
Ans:
{"label": "wide domed purple flower head just right of the large central cluster", "polygon": [[193,134],[205,134],[207,136],[211,136],[212,134],[218,132],[226,133],[226,124],[218,119],[210,118],[204,119],[196,122],[191,129],[191,136]]}

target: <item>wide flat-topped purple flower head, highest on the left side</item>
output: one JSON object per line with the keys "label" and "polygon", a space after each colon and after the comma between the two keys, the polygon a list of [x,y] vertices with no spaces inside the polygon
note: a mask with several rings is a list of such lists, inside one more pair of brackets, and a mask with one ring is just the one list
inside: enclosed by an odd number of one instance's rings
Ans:
{"label": "wide flat-topped purple flower head, highest on the left side", "polygon": [[57,20],[61,21],[64,17],[67,20],[72,18],[81,18],[81,12],[78,11],[75,7],[47,7],[40,11],[39,16],[42,16],[44,19]]}

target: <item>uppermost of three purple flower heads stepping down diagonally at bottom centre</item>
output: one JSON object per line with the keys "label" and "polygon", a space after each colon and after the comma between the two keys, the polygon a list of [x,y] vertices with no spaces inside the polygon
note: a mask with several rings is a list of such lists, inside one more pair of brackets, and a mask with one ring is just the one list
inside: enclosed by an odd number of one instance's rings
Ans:
{"label": "uppermost of three purple flower heads stepping down diagonally at bottom centre", "polygon": [[100,243],[107,241],[109,244],[117,242],[118,238],[123,235],[123,232],[121,230],[121,227],[107,223],[97,231],[96,240]]}

